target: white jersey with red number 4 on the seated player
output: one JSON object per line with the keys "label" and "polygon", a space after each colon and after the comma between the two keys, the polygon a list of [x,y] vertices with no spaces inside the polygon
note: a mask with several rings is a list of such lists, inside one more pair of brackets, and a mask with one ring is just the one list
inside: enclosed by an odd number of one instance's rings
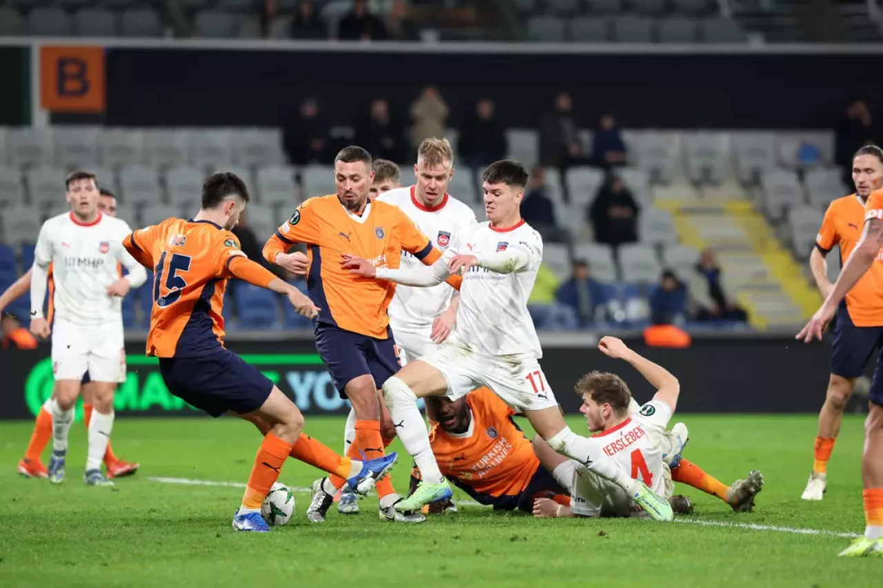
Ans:
{"label": "white jersey with red number 4 on the seated player", "polygon": [[[672,412],[668,404],[652,400],[621,425],[592,436],[604,455],[612,457],[631,478],[664,496],[665,473],[660,440]],[[584,516],[642,516],[643,509],[619,486],[578,466],[570,487],[570,509]]]}

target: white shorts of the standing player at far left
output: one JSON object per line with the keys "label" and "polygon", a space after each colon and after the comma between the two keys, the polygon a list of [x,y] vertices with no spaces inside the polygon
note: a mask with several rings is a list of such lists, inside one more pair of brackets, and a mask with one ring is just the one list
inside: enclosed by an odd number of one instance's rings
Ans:
{"label": "white shorts of the standing player at far left", "polygon": [[58,380],[125,381],[123,325],[83,327],[64,320],[52,328],[52,372]]}

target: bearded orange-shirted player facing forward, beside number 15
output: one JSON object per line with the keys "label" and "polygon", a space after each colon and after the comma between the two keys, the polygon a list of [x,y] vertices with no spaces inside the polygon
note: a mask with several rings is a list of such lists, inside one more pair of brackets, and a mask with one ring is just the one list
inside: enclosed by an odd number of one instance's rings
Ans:
{"label": "bearded orange-shirted player facing forward, beside number 15", "polygon": [[[356,413],[355,438],[347,449],[348,456],[360,452],[383,455],[383,437],[395,436],[389,415],[381,411],[377,388],[400,364],[387,316],[395,284],[351,275],[342,266],[343,255],[358,254],[378,268],[398,268],[403,252],[425,264],[442,256],[401,209],[368,199],[374,180],[371,165],[371,155],[365,149],[341,150],[335,158],[336,193],[306,200],[269,238],[263,251],[271,263],[298,273],[303,271],[300,255],[286,252],[291,245],[307,245],[307,288],[321,308],[314,321],[316,350],[338,392],[350,399]],[[457,280],[452,282],[459,285]],[[381,422],[385,435],[381,435]],[[325,520],[334,487],[328,479],[313,483],[307,518]],[[381,518],[404,523],[425,520],[419,513],[393,508],[399,496],[389,479],[378,482],[377,494]]]}

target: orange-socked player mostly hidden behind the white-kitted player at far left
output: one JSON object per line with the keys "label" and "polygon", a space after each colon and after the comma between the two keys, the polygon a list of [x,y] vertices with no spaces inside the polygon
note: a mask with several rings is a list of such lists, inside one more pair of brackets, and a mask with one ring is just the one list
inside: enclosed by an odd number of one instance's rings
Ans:
{"label": "orange-socked player mostly hidden behind the white-kitted player at far left", "polygon": [[[101,195],[98,200],[98,209],[101,211],[102,215],[116,216],[117,197],[108,190],[101,189],[99,192]],[[49,270],[49,280],[52,280],[51,269]],[[13,300],[24,296],[30,290],[31,269],[28,268],[25,275],[22,275],[16,280],[16,282],[7,288],[3,295],[0,296],[0,313],[2,313]],[[49,324],[52,323],[51,311],[47,314],[47,320],[49,320]],[[125,370],[123,371],[122,377],[123,381],[125,381]],[[88,372],[83,374],[83,380],[81,383],[82,388],[80,389],[79,396],[83,399],[83,424],[86,425],[88,431],[89,422],[92,419],[92,399],[94,397],[95,384],[89,378]],[[25,456],[19,461],[19,474],[26,478],[48,477],[46,466],[42,464],[40,456],[43,449],[46,449],[46,444],[49,443],[49,439],[52,437],[52,411],[54,409],[55,390],[53,389],[52,396],[43,403],[41,410],[37,413],[37,418],[34,421],[34,432],[31,433],[31,440],[27,443]],[[108,441],[108,448],[104,452],[104,467],[107,470],[108,478],[114,479],[132,475],[138,471],[140,464],[132,464],[119,459],[116,454],[114,454],[113,449],[111,449],[110,441]]]}

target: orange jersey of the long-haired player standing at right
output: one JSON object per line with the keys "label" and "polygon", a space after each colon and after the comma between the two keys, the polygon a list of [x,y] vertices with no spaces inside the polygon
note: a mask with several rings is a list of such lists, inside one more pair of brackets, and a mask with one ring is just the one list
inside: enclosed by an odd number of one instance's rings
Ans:
{"label": "orange jersey of the long-haired player standing at right", "polygon": [[[872,210],[872,197],[867,201],[867,210]],[[883,193],[883,192],[881,192]],[[879,198],[879,197],[878,197]],[[879,205],[883,208],[883,203]],[[868,213],[870,214],[870,213]],[[865,205],[856,194],[844,196],[831,202],[822,220],[816,246],[827,253],[838,245],[841,264],[856,248],[864,230]],[[846,309],[849,318],[857,327],[883,326],[883,263],[879,257],[871,269],[859,279],[846,295]]]}

